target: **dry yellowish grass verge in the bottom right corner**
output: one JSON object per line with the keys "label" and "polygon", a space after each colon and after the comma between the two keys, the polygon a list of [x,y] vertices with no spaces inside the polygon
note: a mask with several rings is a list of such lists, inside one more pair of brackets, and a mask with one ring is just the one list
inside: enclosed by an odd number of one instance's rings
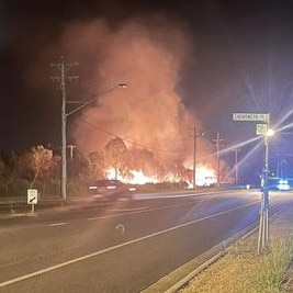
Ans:
{"label": "dry yellowish grass verge in the bottom right corner", "polygon": [[181,293],[280,293],[293,253],[291,236],[277,237],[257,253],[256,235],[234,244]]}

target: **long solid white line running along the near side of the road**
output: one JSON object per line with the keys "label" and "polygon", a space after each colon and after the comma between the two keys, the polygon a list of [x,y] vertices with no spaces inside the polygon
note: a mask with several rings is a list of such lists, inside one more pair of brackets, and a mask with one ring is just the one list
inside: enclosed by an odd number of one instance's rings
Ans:
{"label": "long solid white line running along the near side of the road", "polygon": [[178,229],[178,228],[182,228],[182,227],[185,227],[185,226],[189,226],[189,225],[192,225],[192,224],[195,224],[195,223],[209,219],[209,218],[213,218],[213,217],[216,217],[218,215],[224,215],[224,214],[227,214],[229,212],[237,211],[237,210],[240,210],[243,207],[246,207],[246,206],[249,206],[249,205],[252,205],[252,204],[255,204],[255,203],[245,204],[245,205],[237,206],[237,207],[224,211],[224,212],[219,212],[219,213],[214,214],[214,215],[210,215],[210,216],[205,216],[205,217],[202,217],[202,218],[198,218],[198,219],[194,219],[192,222],[188,222],[188,223],[184,223],[184,224],[181,224],[181,225],[178,225],[178,226],[173,226],[173,227],[170,227],[170,228],[165,229],[165,230],[156,232],[156,233],[153,233],[153,234],[146,235],[144,237],[139,237],[139,238],[133,239],[133,240],[124,243],[124,244],[115,245],[115,246],[105,248],[105,249],[100,250],[100,251],[95,251],[95,252],[92,252],[92,253],[89,253],[89,255],[86,255],[86,256],[82,256],[82,257],[79,257],[79,258],[76,258],[76,259],[71,259],[69,261],[65,261],[65,262],[58,263],[56,266],[48,267],[48,268],[43,269],[43,270],[38,270],[38,271],[32,272],[32,273],[29,273],[29,274],[24,274],[24,275],[21,275],[19,278],[11,279],[11,280],[8,280],[5,282],[0,283],[0,288],[7,286],[7,285],[10,285],[10,284],[20,282],[20,281],[27,280],[30,278],[37,277],[37,275],[41,275],[43,273],[47,273],[47,272],[60,269],[60,268],[67,267],[69,264],[72,264],[72,263],[76,263],[76,262],[79,262],[79,261],[82,261],[82,260],[86,260],[86,259],[89,259],[89,258],[93,258],[93,257],[106,253],[109,251],[115,250],[117,248],[121,248],[121,247],[124,247],[124,246],[127,246],[127,245],[131,245],[131,244],[136,244],[136,243],[139,243],[142,240],[149,239],[149,238],[153,238],[155,236],[162,235],[165,233],[168,233],[168,232],[171,232],[171,230],[174,230],[174,229]]}

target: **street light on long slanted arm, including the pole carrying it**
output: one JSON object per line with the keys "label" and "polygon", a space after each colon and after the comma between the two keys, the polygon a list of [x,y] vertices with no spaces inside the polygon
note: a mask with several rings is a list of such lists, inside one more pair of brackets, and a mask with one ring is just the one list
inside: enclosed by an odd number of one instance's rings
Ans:
{"label": "street light on long slanted arm, including the pole carrying it", "polygon": [[[81,105],[77,106],[76,109],[74,109],[72,111],[66,113],[66,104],[72,103],[72,101],[66,101],[66,91],[65,91],[65,84],[63,84],[63,103],[61,103],[61,140],[63,140],[63,146],[61,146],[61,198],[64,201],[66,201],[67,199],[67,189],[66,189],[66,183],[67,183],[67,142],[66,142],[66,120],[69,115],[80,111],[81,109],[83,109],[84,106],[89,105],[90,103],[97,101],[98,98],[100,98],[101,95],[104,95],[117,88],[123,88],[125,89],[127,87],[126,83],[117,83],[116,86],[100,92],[99,94],[95,94],[91,100],[81,103]],[[74,102],[76,103],[76,102]]]}

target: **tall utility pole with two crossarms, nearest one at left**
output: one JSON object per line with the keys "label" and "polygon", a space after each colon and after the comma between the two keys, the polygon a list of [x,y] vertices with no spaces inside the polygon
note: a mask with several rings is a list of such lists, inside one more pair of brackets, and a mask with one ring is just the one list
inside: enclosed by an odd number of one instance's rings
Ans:
{"label": "tall utility pole with two crossarms, nearest one at left", "polygon": [[77,63],[65,63],[65,58],[61,56],[58,63],[52,63],[50,67],[56,67],[59,71],[59,76],[52,77],[53,80],[58,81],[59,89],[61,91],[61,199],[66,201],[67,199],[67,154],[66,154],[66,81],[77,80],[77,76],[68,76],[67,72],[71,67],[77,66]]}

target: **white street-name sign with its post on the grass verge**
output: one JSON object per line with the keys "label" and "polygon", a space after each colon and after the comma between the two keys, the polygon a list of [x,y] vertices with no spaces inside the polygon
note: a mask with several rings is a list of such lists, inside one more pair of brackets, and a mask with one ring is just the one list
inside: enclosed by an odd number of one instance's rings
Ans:
{"label": "white street-name sign with its post on the grass verge", "polygon": [[261,122],[257,124],[256,134],[262,135],[264,140],[264,168],[261,176],[261,205],[259,219],[258,253],[267,246],[269,240],[269,113],[234,113],[234,121]]}

